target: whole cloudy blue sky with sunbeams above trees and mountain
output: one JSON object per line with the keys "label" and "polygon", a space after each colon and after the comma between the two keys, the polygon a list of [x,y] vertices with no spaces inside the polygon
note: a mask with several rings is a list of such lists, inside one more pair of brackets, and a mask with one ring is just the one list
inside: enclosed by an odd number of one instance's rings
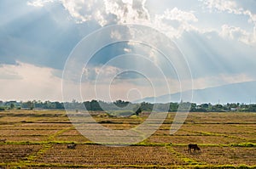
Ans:
{"label": "whole cloudy blue sky with sunbeams above trees and mountain", "polygon": [[0,20],[0,100],[132,101],[256,81],[255,0],[1,0]]}

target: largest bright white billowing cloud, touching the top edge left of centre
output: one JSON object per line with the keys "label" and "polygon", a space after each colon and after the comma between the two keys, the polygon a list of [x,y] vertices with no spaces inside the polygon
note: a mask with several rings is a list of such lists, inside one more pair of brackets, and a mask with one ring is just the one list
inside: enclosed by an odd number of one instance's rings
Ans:
{"label": "largest bright white billowing cloud, touching the top edge left of centre", "polygon": [[146,0],[34,0],[30,6],[43,7],[60,2],[77,23],[96,20],[101,26],[111,23],[141,23],[149,20]]}

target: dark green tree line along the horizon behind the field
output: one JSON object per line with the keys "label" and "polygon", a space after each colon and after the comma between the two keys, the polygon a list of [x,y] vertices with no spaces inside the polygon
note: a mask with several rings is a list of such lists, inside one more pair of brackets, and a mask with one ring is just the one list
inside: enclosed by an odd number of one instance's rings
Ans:
{"label": "dark green tree line along the horizon behind the field", "polygon": [[85,102],[51,102],[51,101],[0,101],[0,110],[64,110],[77,108],[78,110],[86,108],[89,111],[103,110],[134,110],[134,111],[170,111],[177,112],[179,107],[190,106],[190,112],[224,112],[224,111],[241,111],[241,112],[256,112],[256,104],[195,104],[189,102],[167,103],[167,104],[151,104],[151,103],[131,103],[128,101],[117,100],[112,103],[103,102],[100,100],[91,100]]}

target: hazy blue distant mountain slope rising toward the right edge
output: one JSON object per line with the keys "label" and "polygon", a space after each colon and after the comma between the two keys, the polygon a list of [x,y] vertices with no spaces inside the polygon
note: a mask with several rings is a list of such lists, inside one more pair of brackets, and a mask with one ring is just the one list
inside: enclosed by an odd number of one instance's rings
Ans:
{"label": "hazy blue distant mountain slope rising toward the right edge", "polygon": [[[157,100],[158,103],[168,103],[168,102],[183,102],[189,100],[190,91],[185,91],[183,93],[173,93],[159,96],[157,98],[145,98],[136,100],[135,102],[148,102],[154,103]],[[182,97],[181,97],[182,96]],[[171,100],[170,100],[171,99]],[[209,87],[205,89],[193,90],[192,102],[196,104],[202,103],[212,103],[217,104],[226,103],[255,103],[256,102],[256,81],[253,82],[241,82],[233,83],[220,87]]]}

